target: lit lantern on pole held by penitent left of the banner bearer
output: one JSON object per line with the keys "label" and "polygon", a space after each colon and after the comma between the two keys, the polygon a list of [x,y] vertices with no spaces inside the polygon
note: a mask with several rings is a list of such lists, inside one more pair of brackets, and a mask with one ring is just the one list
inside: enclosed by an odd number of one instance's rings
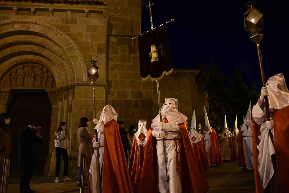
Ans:
{"label": "lit lantern on pole held by penitent left of the banner bearer", "polygon": [[[92,87],[93,96],[93,112],[94,117],[96,117],[96,107],[95,107],[95,87],[97,85],[96,80],[99,78],[98,66],[96,66],[96,61],[91,60],[90,66],[87,69],[88,79],[91,81],[89,84]],[[95,130],[95,141],[98,142],[97,130]],[[99,148],[96,148],[96,169],[98,171],[98,180],[101,179],[100,167],[99,167]],[[101,191],[101,183],[99,183],[99,190]]]}

